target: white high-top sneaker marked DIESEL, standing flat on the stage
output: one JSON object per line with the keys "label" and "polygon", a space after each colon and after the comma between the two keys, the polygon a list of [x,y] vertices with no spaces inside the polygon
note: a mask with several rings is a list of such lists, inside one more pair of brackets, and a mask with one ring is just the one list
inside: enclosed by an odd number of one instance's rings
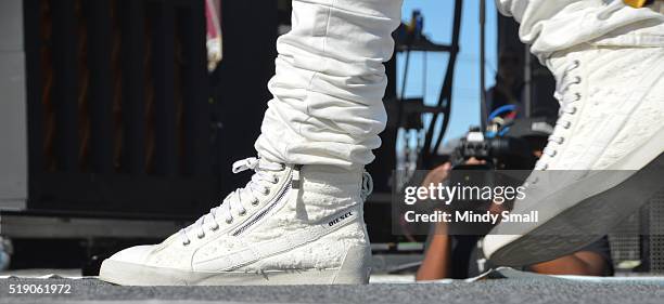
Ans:
{"label": "white high-top sneaker marked DIESEL, standing flat on the stage", "polygon": [[133,286],[367,283],[371,251],[362,169],[248,158],[244,188],[159,244],[105,260],[100,279]]}

